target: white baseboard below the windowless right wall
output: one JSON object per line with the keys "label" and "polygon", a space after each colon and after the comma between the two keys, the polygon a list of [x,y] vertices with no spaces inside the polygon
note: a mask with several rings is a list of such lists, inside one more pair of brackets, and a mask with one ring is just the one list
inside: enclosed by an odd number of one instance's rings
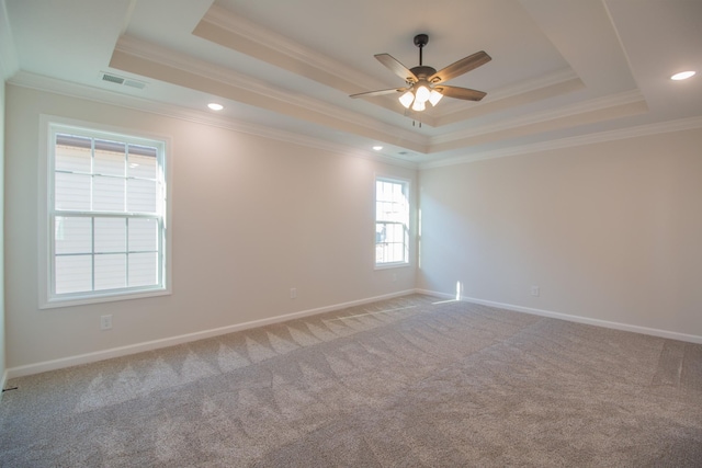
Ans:
{"label": "white baseboard below the windowless right wall", "polygon": [[[415,289],[415,292],[418,294],[426,294],[429,296],[435,296],[435,297],[441,297],[445,299],[455,300],[456,298],[455,294],[438,293],[434,290],[426,290],[426,289]],[[667,338],[670,340],[679,340],[679,341],[687,341],[689,343],[702,344],[702,336],[699,336],[695,334],[686,334],[686,333],[679,333],[675,331],[653,329],[653,328],[639,327],[639,326],[634,326],[629,323],[612,322],[609,320],[592,319],[589,317],[571,316],[568,313],[553,312],[550,310],[534,309],[531,307],[514,306],[512,304],[503,304],[503,303],[495,303],[492,300],[477,299],[475,297],[461,296],[461,300],[465,300],[466,303],[480,304],[483,306],[496,307],[499,309],[513,310],[516,312],[532,313],[534,316],[551,317],[554,319],[567,320],[570,322],[578,322],[578,323],[585,323],[585,324],[590,324],[596,327],[603,327],[603,328],[622,330],[622,331],[631,331],[634,333],[649,334],[653,336],[660,336],[660,338]]]}

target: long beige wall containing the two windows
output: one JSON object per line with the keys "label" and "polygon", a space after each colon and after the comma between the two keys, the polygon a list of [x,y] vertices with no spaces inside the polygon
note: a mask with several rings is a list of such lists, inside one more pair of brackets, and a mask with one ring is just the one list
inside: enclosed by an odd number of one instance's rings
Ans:
{"label": "long beige wall containing the two windows", "polygon": [[[415,170],[13,85],[7,106],[9,368],[415,286],[414,267],[374,270],[373,203],[376,173],[416,187]],[[37,308],[39,114],[172,138],[172,295]]]}

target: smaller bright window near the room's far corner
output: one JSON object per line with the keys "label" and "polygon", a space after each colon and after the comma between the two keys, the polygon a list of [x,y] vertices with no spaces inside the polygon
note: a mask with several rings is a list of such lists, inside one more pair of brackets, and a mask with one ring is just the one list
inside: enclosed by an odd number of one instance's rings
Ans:
{"label": "smaller bright window near the room's far corner", "polygon": [[409,262],[409,183],[375,180],[375,265]]}

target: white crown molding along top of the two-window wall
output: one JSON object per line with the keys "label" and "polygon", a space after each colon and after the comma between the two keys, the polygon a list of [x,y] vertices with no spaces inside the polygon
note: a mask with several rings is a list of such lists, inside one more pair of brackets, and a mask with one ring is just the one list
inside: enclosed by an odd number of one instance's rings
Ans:
{"label": "white crown molding along top of the two-window wall", "polygon": [[61,94],[69,98],[89,100],[101,104],[109,104],[140,112],[148,112],[150,114],[161,115],[169,118],[177,118],[180,121],[191,122],[200,125],[214,126],[236,133],[269,138],[276,141],[305,146],[322,151],[333,152],[340,156],[382,161],[388,164],[399,165],[408,169],[417,169],[418,167],[418,163],[412,161],[406,161],[371,151],[362,151],[353,147],[335,144],[305,135],[299,135],[293,132],[285,132],[263,125],[215,116],[206,112],[200,112],[167,103],[159,103],[143,98],[124,95],[113,91],[57,80],[54,78],[34,75],[27,71],[20,71],[14,77],[12,77],[12,79],[10,79],[8,83],[37,91]]}

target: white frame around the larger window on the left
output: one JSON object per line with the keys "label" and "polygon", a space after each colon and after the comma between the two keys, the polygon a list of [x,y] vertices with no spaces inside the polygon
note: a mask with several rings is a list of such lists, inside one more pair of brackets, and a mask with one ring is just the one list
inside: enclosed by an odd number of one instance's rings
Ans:
{"label": "white frame around the larger window on the left", "polygon": [[[107,127],[100,124],[81,122],[57,116],[42,115],[39,128],[39,197],[38,197],[38,261],[39,261],[39,309],[68,307],[82,304],[95,304],[114,300],[137,299],[144,297],[171,294],[171,175],[170,175],[170,138],[146,135],[143,132]],[[133,286],[121,289],[91,290],[84,293],[55,294],[54,287],[54,219],[60,212],[54,209],[55,180],[55,144],[57,134],[77,134],[92,138],[105,138],[134,145],[155,146],[159,150],[158,171],[161,189],[160,203],[162,209],[158,222],[160,232],[158,240],[159,284],[150,286]],[[75,213],[75,212],[73,212]],[[88,216],[91,212],[86,212]],[[104,214],[103,214],[104,215]],[[107,215],[110,216],[110,215]],[[121,218],[138,218],[139,214],[114,214]]]}

